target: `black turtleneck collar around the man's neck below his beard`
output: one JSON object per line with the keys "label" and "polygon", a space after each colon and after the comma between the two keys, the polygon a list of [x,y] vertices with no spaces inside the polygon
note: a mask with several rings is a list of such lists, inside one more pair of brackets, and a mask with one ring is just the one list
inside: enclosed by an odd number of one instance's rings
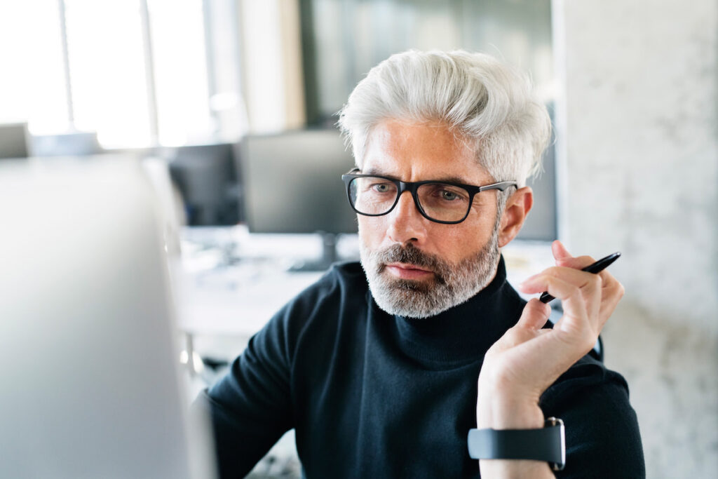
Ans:
{"label": "black turtleneck collar around the man's neck below his beard", "polygon": [[516,324],[523,299],[506,281],[503,256],[487,287],[467,302],[423,319],[393,316],[393,336],[407,355],[434,366],[473,362]]}

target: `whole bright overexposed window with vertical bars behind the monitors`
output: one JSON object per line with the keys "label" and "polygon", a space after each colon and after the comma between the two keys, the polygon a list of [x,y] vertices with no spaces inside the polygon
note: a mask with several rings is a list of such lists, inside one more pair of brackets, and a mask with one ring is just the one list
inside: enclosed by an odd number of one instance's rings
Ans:
{"label": "whole bright overexposed window with vertical bars behind the monitors", "polygon": [[237,15],[233,0],[2,2],[0,122],[110,148],[236,140]]}

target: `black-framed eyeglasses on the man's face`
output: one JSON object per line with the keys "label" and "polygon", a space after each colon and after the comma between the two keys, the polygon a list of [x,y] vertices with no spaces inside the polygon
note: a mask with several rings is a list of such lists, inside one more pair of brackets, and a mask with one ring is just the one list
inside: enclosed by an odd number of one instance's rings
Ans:
{"label": "black-framed eyeglasses on the man's face", "polygon": [[441,181],[404,182],[390,177],[360,175],[352,169],[342,175],[351,207],[360,215],[381,216],[394,209],[401,193],[411,192],[416,209],[424,218],[436,223],[461,223],[469,215],[477,193],[503,191],[516,186],[515,181],[502,181],[484,186],[462,185]]}

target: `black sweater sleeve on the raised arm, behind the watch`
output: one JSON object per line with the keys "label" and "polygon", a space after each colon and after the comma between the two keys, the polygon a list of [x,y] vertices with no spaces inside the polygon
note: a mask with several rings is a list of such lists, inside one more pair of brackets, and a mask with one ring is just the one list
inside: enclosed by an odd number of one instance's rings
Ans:
{"label": "black sweater sleeve on the raised arm, behind the watch", "polygon": [[585,357],[544,393],[541,407],[566,427],[566,468],[557,478],[645,478],[638,419],[623,376]]}

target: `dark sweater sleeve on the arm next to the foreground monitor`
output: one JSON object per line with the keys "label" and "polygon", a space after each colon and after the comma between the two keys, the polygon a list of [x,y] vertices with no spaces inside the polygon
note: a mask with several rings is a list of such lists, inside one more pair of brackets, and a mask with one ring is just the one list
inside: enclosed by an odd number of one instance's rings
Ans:
{"label": "dark sweater sleeve on the arm next to the foreground monitor", "polygon": [[287,309],[249,340],[228,374],[193,405],[208,411],[222,479],[244,477],[293,427]]}

